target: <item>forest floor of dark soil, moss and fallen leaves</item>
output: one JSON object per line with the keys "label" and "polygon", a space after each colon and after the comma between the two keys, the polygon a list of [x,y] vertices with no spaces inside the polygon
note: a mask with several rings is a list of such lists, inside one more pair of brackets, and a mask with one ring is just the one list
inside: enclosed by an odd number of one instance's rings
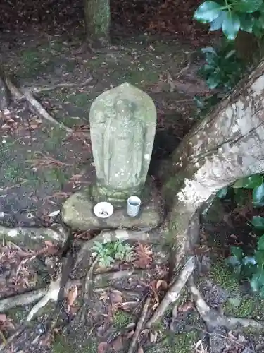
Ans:
{"label": "forest floor of dark soil, moss and fallen leaves", "polygon": [[[181,6],[182,1],[179,4]],[[18,13],[23,18],[23,11]],[[155,19],[155,11],[153,13]],[[8,18],[8,11],[4,15]],[[2,13],[3,18],[4,15]],[[145,13],[145,16],[149,15]],[[76,22],[76,18],[74,20]],[[158,32],[157,27],[162,28],[161,22],[149,20],[147,28]],[[4,20],[2,23],[8,26]],[[41,119],[30,112],[26,102],[12,104],[11,109],[1,116],[1,225],[49,227],[60,222],[63,202],[95,178],[89,140],[89,108],[98,95],[123,82],[141,88],[156,104],[158,125],[151,167],[151,174],[155,177],[158,161],[175,149],[196,121],[194,96],[210,94],[196,74],[201,61],[190,53],[210,43],[211,38],[203,33],[203,37],[197,40],[199,35],[192,25],[189,20],[189,23],[179,25],[182,26],[179,32],[170,28],[169,35],[155,34],[146,30],[146,26],[141,34],[126,37],[115,34],[113,46],[101,54],[78,52],[81,41],[77,35],[74,40],[69,40],[71,36],[66,33],[67,28],[49,28],[44,32],[37,24],[25,28],[21,24],[19,31],[12,27],[1,32],[1,60],[15,85],[30,90],[40,88],[35,95],[37,100],[54,119],[72,129],[69,134]],[[166,26],[168,30],[168,23]],[[187,70],[182,71],[183,68]],[[86,83],[89,78],[91,80]],[[75,83],[78,87],[45,90],[60,83]],[[224,213],[223,210],[222,218]],[[227,313],[261,319],[263,302],[245,294],[235,279],[230,280],[231,275],[227,275],[222,262],[217,261],[209,271],[210,263],[215,261],[214,258],[210,260],[210,255],[217,253],[222,259],[222,254],[228,251],[226,244],[229,244],[230,235],[241,232],[241,228],[236,231],[226,223],[224,226],[219,224],[221,215],[218,216],[214,227],[201,229],[202,242],[198,246],[204,265],[199,280],[201,292],[208,304],[215,308],[222,307]],[[215,233],[220,234],[216,245],[215,242],[212,244]],[[72,235],[73,244],[92,237],[89,232]],[[30,249],[25,244],[13,244],[3,239],[0,297],[49,281],[46,270],[39,270],[36,258],[55,255],[57,245],[44,241],[39,247]],[[74,253],[73,246],[73,256]],[[72,279],[80,280],[85,264],[82,266],[78,275],[76,269],[75,273],[72,271]],[[108,268],[124,277],[103,277],[100,274],[105,270],[100,265],[94,270],[94,296],[85,322],[75,321],[80,308],[80,286],[73,285],[59,308],[53,330],[46,331],[49,313],[54,310],[51,303],[34,319],[34,332],[32,328],[25,330],[9,352],[71,353],[76,349],[90,353],[127,352],[144,299],[153,295],[151,306],[156,307],[167,289],[168,256],[154,245],[139,243],[133,250],[132,262],[119,261]],[[125,271],[128,271],[126,276]],[[5,341],[5,337],[20,327],[31,307],[21,306],[0,313],[1,340]],[[143,331],[138,342],[139,347],[143,347],[143,350],[139,348],[139,353],[205,353],[208,343],[213,353],[264,352],[261,350],[264,347],[261,335],[256,337],[241,330],[207,333],[187,292],[165,314],[163,321],[153,329]]]}

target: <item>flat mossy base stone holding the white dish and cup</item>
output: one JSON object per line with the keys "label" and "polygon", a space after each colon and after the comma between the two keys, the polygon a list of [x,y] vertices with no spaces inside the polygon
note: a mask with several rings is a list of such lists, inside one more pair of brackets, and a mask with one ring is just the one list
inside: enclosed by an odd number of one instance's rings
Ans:
{"label": "flat mossy base stone holding the white dish and cup", "polygon": [[87,193],[80,191],[70,196],[63,204],[62,218],[66,225],[75,230],[87,229],[142,229],[154,228],[161,222],[158,205],[153,201],[142,205],[138,217],[128,217],[126,208],[116,208],[108,218],[97,218],[94,215],[95,203],[87,197]]}

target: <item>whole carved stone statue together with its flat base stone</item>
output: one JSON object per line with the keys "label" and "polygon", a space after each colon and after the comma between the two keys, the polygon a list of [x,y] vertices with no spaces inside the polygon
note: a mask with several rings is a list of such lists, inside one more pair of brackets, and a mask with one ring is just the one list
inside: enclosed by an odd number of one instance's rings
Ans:
{"label": "whole carved stone statue together with its flat base stone", "polygon": [[[153,187],[146,185],[156,118],[151,97],[130,83],[103,92],[94,100],[90,130],[96,181],[63,205],[67,225],[79,230],[158,226],[162,218],[160,205],[153,201]],[[130,196],[142,200],[137,217],[126,214]],[[113,204],[113,215],[104,219],[94,215],[94,205],[101,201]]]}

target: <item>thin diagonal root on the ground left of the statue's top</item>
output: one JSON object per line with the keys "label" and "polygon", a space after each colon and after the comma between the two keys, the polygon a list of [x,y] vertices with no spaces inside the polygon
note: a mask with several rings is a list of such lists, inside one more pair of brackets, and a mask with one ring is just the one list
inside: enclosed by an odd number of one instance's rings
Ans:
{"label": "thin diagonal root on the ground left of the statue's top", "polygon": [[48,121],[50,121],[52,124],[56,124],[60,126],[61,128],[64,128],[65,131],[68,133],[73,133],[73,130],[71,128],[68,128],[67,126],[59,123],[56,119],[54,119],[47,111],[42,107],[42,104],[40,104],[32,95],[32,93],[29,90],[25,90],[21,92],[9,78],[6,78],[6,85],[8,86],[8,90],[10,90],[11,95],[14,97],[15,100],[20,102],[21,100],[25,99],[27,102],[30,104],[30,107],[32,108],[33,112],[36,112],[38,116],[41,118],[44,118]]}

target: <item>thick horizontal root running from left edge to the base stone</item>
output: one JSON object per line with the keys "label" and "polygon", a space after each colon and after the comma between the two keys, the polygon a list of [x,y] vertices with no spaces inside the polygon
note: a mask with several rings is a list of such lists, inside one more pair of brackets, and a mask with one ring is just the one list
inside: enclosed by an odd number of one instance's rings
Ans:
{"label": "thick horizontal root running from left edge to the base stone", "polygon": [[[55,225],[54,225],[55,226]],[[18,239],[20,242],[24,242],[25,238],[34,240],[51,240],[60,241],[62,244],[68,239],[68,232],[65,231],[64,227],[61,225],[56,225],[55,227],[49,228],[27,228],[27,227],[16,227],[8,228],[0,226],[0,239]]]}

